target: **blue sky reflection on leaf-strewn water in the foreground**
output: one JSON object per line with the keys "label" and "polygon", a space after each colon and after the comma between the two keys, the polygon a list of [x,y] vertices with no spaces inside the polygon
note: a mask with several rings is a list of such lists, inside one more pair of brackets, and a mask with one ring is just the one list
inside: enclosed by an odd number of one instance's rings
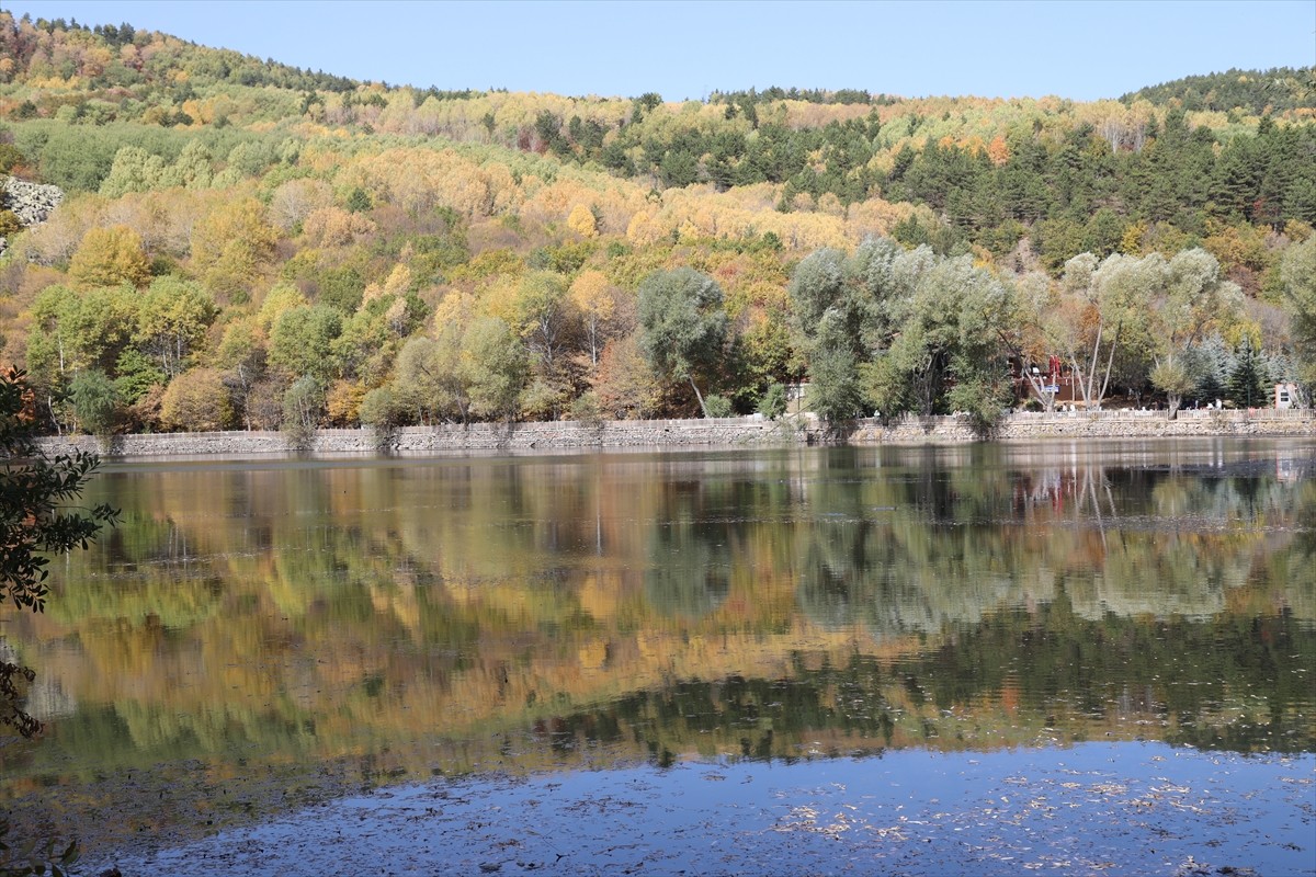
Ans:
{"label": "blue sky reflection on leaf-strewn water in the foreground", "polygon": [[[1307,874],[1316,757],[1163,744],[404,785],[125,873]],[[1233,870],[1230,870],[1233,869]]]}

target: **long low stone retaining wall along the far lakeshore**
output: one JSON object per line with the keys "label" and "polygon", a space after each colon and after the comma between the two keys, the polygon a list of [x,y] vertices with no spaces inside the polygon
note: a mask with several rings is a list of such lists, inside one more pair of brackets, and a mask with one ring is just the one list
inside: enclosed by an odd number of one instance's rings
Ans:
{"label": "long low stone retaining wall along the far lakeshore", "polygon": [[[1019,413],[1008,415],[995,440],[1113,439],[1171,437],[1316,437],[1316,412],[1238,410],[1082,412],[1075,414]],[[433,455],[467,451],[550,451],[579,448],[690,448],[782,444],[959,444],[976,440],[962,417],[905,417],[892,423],[861,419],[828,430],[808,417],[767,421],[728,417],[682,421],[607,421],[583,423],[471,423],[470,426],[411,426],[379,435],[374,430],[320,430],[309,448],[315,455],[358,454]],[[50,454],[70,448],[96,451],[107,459],[151,456],[246,458],[283,456],[297,448],[283,433],[157,433],[42,439]]]}

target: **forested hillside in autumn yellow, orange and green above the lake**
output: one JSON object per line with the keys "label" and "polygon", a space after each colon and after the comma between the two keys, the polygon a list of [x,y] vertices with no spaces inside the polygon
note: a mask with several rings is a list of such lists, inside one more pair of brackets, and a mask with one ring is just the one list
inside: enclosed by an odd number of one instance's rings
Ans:
{"label": "forested hillside in autumn yellow, orange and green above the lake", "polygon": [[1055,363],[1088,405],[1262,404],[1316,381],[1312,85],[421,91],[0,12],[0,174],[64,192],[0,204],[0,356],[95,433],[771,414],[799,381],[988,423]]}

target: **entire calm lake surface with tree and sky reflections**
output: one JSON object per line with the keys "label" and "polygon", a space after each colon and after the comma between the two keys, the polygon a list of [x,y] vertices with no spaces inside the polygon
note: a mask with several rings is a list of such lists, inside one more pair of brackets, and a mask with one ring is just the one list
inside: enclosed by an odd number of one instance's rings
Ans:
{"label": "entire calm lake surface with tree and sky reflections", "polygon": [[107,464],[0,806],[124,874],[1313,874],[1316,438]]}

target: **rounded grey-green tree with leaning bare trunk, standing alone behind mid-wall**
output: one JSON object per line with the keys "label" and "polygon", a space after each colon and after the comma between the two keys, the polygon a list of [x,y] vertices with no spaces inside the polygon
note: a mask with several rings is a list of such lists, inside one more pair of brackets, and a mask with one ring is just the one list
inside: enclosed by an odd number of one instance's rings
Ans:
{"label": "rounded grey-green tree with leaning bare trunk, standing alone behind mid-wall", "polygon": [[640,348],[667,380],[688,381],[708,417],[695,381],[713,368],[726,342],[728,320],[717,281],[694,268],[655,271],[640,284]]}

